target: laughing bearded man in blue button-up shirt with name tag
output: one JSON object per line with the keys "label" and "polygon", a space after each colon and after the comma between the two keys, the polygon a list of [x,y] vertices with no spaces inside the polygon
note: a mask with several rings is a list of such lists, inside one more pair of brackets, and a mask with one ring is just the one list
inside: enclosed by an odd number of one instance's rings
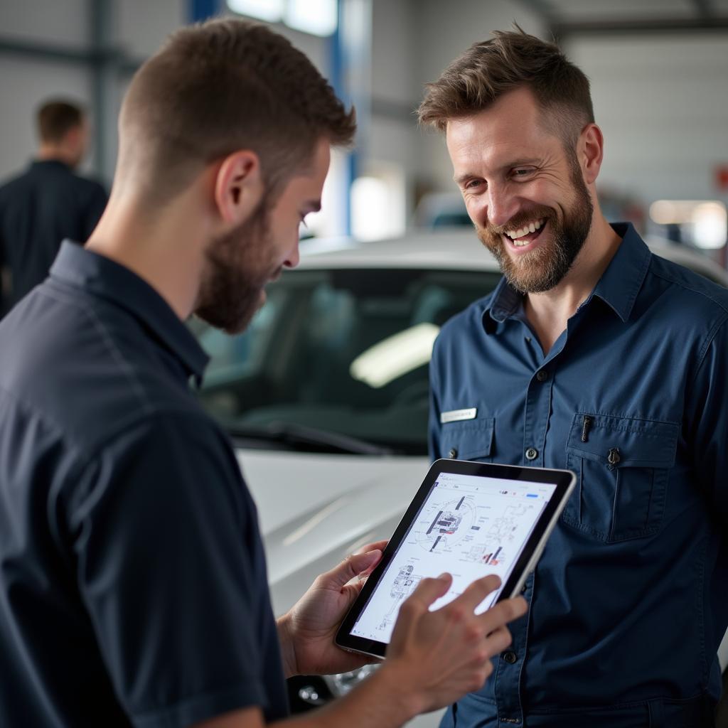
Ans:
{"label": "laughing bearded man in blue button-up shirt with name tag", "polygon": [[589,83],[494,33],[429,85],[478,237],[504,273],[443,326],[433,458],[568,468],[578,488],[494,678],[443,726],[713,725],[728,625],[728,293],[609,225]]}

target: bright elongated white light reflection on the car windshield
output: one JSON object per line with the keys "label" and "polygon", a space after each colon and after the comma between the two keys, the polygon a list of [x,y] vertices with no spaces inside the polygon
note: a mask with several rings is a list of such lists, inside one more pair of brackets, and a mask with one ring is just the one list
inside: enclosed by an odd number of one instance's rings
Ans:
{"label": "bright elongated white light reflection on the car windshield", "polygon": [[384,387],[397,377],[427,364],[438,333],[439,326],[419,323],[388,336],[352,361],[349,373],[370,387]]}

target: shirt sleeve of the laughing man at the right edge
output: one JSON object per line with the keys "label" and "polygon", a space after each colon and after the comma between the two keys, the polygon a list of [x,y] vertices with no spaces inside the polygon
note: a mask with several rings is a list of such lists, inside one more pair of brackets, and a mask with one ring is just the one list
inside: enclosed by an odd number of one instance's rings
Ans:
{"label": "shirt sleeve of the laughing man at the right edge", "polygon": [[728,525],[728,314],[713,329],[689,391],[686,438],[713,513]]}

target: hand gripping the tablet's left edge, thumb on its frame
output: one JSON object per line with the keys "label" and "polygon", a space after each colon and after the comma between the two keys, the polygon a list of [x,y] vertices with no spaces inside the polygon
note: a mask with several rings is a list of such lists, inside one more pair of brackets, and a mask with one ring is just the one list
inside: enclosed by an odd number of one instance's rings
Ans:
{"label": "hand gripping the tablet's left edge, thumb on its frame", "polygon": [[363,546],[321,574],[290,612],[280,617],[278,636],[286,676],[345,673],[378,662],[374,657],[345,652],[333,638],[386,545],[387,541],[379,541]]}

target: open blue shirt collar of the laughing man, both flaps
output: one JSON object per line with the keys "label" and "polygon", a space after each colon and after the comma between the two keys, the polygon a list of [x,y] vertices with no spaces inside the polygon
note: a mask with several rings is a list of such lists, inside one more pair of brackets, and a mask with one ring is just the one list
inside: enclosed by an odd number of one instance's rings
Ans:
{"label": "open blue shirt collar of the laughing man, both flaps", "polygon": [[[632,223],[614,223],[612,229],[622,238],[622,242],[582,306],[586,306],[594,296],[598,296],[622,321],[627,321],[647,274],[652,253]],[[486,331],[494,329],[487,325],[485,314],[489,314],[497,323],[502,323],[518,314],[522,308],[523,295],[510,286],[505,277],[502,278],[491,296],[490,304],[483,312]]]}

